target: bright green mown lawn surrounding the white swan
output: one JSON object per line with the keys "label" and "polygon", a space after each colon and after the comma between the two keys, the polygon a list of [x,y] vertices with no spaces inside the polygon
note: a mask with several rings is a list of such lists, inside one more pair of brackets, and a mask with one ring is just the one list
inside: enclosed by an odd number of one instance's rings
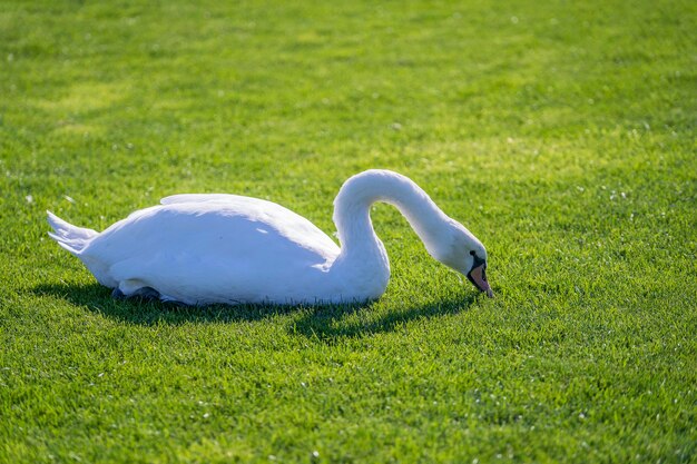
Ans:
{"label": "bright green mown lawn surrounding the white swan", "polygon": [[[194,4],[196,3],[196,4]],[[695,462],[690,1],[0,0],[0,462]],[[362,307],[115,302],[48,239],[163,196],[410,176]]]}

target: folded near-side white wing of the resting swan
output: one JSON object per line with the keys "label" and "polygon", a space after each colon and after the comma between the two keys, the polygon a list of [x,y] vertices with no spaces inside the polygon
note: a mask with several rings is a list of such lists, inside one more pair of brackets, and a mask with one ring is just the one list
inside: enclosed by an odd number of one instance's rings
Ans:
{"label": "folded near-side white wing of the resting swan", "polygon": [[136,211],[100,234],[86,251],[115,282],[134,280],[177,300],[204,303],[314,288],[315,276],[340,250],[307,219],[247,199]]}

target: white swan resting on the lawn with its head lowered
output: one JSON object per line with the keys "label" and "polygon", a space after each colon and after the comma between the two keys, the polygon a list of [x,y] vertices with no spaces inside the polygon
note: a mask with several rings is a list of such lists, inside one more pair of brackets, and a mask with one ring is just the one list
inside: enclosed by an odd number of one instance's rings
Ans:
{"label": "white swan resting on the lawn with its head lowered", "polygon": [[302,216],[236,195],[175,195],[102,233],[48,211],[51,238],[115,296],[187,305],[321,304],[379,298],[390,263],[370,218],[384,201],[406,217],[429,254],[489,296],[487,251],[409,178],[387,170],[351,177],[334,200],[342,247]]}

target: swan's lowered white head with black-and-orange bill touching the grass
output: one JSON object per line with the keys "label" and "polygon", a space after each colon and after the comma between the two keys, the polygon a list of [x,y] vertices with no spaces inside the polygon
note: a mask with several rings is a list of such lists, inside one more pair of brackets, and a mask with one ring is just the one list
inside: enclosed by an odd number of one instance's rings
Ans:
{"label": "swan's lowered white head with black-and-orange bill touching the grass", "polygon": [[452,220],[442,241],[431,255],[457,272],[467,276],[480,292],[493,297],[487,280],[487,249],[477,237],[460,223]]}

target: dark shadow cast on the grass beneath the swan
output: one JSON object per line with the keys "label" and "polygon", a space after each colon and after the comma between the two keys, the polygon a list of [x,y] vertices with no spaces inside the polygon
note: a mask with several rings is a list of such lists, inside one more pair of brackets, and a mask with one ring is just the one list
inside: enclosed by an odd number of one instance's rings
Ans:
{"label": "dark shadow cast on the grass beneath the swan", "polygon": [[35,287],[33,293],[59,297],[94,313],[124,323],[145,326],[254,322],[275,316],[293,315],[288,332],[320,340],[393,332],[400,325],[413,319],[467,310],[477,300],[477,296],[470,293],[457,299],[404,306],[401,310],[373,314],[370,309],[374,308],[376,304],[371,302],[320,306],[184,306],[140,298],[114,299],[111,290],[99,284],[42,284]]}

